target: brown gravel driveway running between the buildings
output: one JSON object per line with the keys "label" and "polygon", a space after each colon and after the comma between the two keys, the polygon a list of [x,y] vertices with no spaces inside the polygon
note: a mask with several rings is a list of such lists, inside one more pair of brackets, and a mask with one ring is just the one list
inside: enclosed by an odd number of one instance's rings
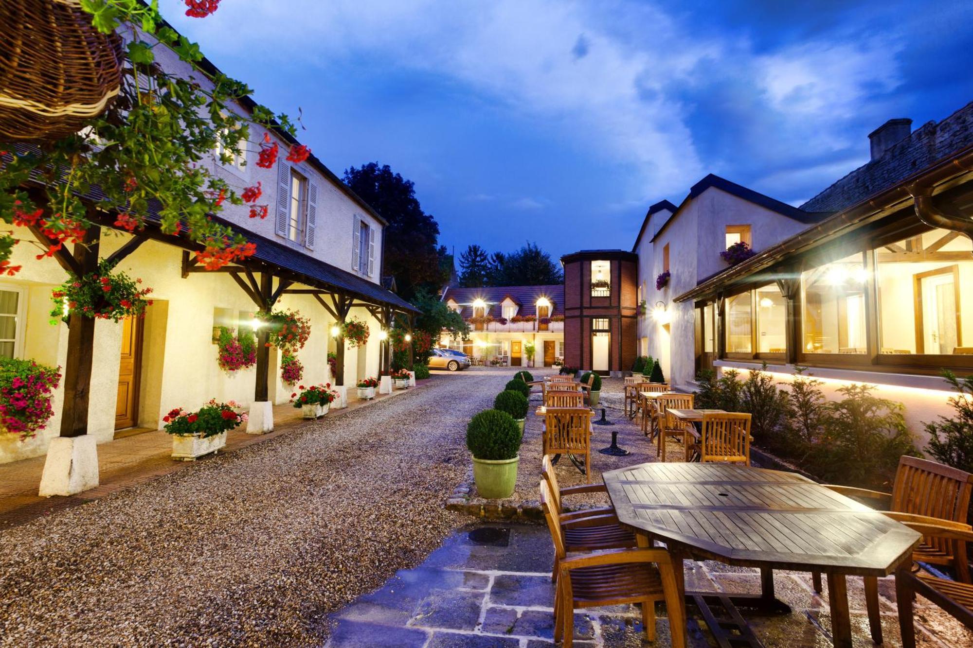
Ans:
{"label": "brown gravel driveway running between the buildings", "polygon": [[514,371],[421,389],[0,532],[0,645],[320,645],[469,519],[443,502]]}

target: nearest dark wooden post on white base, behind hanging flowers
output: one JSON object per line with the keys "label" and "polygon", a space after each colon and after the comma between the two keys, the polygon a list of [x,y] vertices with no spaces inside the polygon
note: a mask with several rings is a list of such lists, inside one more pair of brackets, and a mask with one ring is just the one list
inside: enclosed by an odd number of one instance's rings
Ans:
{"label": "nearest dark wooden post on white base, behind hanging flowers", "polygon": [[[101,228],[92,226],[85,233],[82,242],[74,246],[74,261],[81,275],[98,269],[100,233]],[[60,425],[62,437],[80,437],[88,433],[93,360],[94,318],[72,313],[68,317],[67,359],[64,361],[64,405],[61,408]]]}

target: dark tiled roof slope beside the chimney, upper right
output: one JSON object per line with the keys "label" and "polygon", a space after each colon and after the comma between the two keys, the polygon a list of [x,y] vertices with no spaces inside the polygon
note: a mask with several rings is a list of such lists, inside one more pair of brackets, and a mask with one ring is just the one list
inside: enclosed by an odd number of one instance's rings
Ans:
{"label": "dark tiled roof slope beside the chimney, upper right", "polygon": [[920,126],[899,143],[811,198],[802,209],[840,211],[973,144],[973,102],[940,123]]}

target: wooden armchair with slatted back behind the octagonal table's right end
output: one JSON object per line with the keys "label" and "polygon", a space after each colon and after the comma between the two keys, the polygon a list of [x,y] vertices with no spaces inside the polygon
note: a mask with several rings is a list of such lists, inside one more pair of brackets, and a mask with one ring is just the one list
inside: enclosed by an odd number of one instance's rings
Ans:
{"label": "wooden armchair with slatted back behind the octagonal table's right end", "polygon": [[[880,510],[965,524],[973,475],[928,459],[903,456],[899,459],[891,493],[852,486],[825,486],[848,497],[877,502]],[[923,538],[922,544],[913,552],[913,559],[953,567],[959,581],[971,582],[964,541]],[[814,588],[820,592],[820,575],[814,573],[813,576]]]}

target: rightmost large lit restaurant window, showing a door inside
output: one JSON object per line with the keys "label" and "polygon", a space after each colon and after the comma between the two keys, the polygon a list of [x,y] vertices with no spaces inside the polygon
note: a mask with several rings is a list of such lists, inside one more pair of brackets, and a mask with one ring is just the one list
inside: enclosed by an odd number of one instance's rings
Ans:
{"label": "rightmost large lit restaurant window, showing a door inside", "polygon": [[881,354],[973,355],[971,252],[949,230],[875,250]]}

